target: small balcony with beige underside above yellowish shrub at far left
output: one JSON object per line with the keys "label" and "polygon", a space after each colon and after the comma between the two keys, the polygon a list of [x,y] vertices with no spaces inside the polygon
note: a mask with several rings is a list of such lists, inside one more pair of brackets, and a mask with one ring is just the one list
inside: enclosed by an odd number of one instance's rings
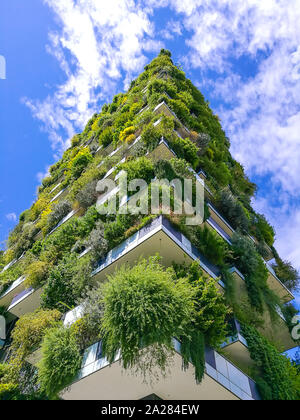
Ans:
{"label": "small balcony with beige underside above yellowish shrub at far left", "polygon": [[42,289],[25,289],[15,296],[7,309],[8,312],[20,318],[21,316],[34,312],[40,306]]}

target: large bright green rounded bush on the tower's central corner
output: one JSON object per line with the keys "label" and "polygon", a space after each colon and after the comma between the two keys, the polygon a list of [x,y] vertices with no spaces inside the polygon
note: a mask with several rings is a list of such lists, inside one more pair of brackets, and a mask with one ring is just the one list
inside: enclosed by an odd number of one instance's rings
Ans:
{"label": "large bright green rounded bush on the tower's central corner", "polygon": [[188,282],[175,282],[172,270],[165,270],[157,257],[121,267],[104,288],[102,330],[108,359],[113,361],[121,349],[128,368],[139,361],[142,347],[156,344],[171,350],[172,338],[184,336],[193,318],[193,297]]}

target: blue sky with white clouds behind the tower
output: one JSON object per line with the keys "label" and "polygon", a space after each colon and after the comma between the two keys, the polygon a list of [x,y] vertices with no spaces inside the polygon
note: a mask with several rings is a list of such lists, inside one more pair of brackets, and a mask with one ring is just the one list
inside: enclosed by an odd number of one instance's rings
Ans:
{"label": "blue sky with white clouds behind the tower", "polygon": [[72,135],[165,47],[221,118],[259,186],[254,206],[300,269],[299,21],[299,0],[1,2],[2,246]]}

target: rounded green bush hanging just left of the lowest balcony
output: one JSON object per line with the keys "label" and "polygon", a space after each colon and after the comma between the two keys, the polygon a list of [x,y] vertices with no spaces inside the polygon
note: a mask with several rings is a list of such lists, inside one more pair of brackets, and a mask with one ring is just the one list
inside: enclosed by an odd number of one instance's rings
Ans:
{"label": "rounded green bush hanging just left of the lowest balcony", "polygon": [[55,399],[75,379],[81,366],[82,356],[74,330],[63,326],[48,330],[41,351],[39,383],[46,395]]}

